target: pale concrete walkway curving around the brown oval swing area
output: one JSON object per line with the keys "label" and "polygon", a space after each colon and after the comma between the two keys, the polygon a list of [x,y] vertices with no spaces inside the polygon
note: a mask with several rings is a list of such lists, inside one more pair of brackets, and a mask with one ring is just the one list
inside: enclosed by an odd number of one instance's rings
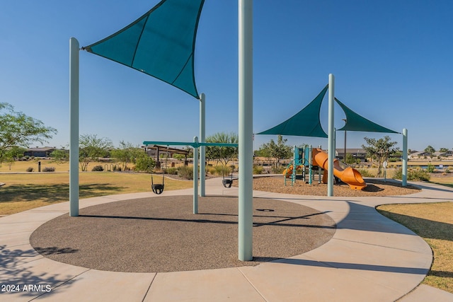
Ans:
{"label": "pale concrete walkway curving around the brown oval swing area", "polygon": [[[31,247],[30,234],[68,213],[69,203],[0,218],[0,301],[453,301],[453,294],[421,285],[432,262],[427,243],[386,219],[378,204],[452,202],[453,190],[426,183],[402,197],[309,197],[255,191],[325,211],[337,223],[328,243],[303,255],[190,272],[124,273],[49,260]],[[207,195],[237,195],[207,180]],[[160,196],[191,194],[166,191]],[[83,199],[80,207],[156,196],[152,192]]]}

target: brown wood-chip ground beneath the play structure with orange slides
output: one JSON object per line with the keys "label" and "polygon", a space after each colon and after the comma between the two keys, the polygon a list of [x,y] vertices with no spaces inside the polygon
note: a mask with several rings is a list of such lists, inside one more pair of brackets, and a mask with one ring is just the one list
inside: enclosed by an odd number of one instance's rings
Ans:
{"label": "brown wood-chip ground beneath the play structure with orange slides", "polygon": [[[333,185],[333,194],[341,197],[361,197],[361,196],[395,196],[395,195],[406,195],[420,192],[420,189],[408,185],[402,187],[401,182],[395,182],[394,180],[374,180],[366,179],[367,187],[364,190],[351,190],[348,185],[340,182]],[[233,185],[237,187],[238,180],[234,180]],[[297,180],[294,185],[291,185],[291,180],[287,180],[285,186],[285,180],[282,176],[280,177],[261,177],[253,178],[253,190],[284,193],[284,194],[300,194],[300,195],[314,195],[314,196],[326,196],[327,185],[313,182],[311,185],[306,184],[302,180]]]}

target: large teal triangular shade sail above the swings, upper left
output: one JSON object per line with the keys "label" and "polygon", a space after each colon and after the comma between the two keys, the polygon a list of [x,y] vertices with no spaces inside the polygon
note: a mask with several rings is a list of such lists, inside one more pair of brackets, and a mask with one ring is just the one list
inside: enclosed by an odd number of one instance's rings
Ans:
{"label": "large teal triangular shade sail above the swings, upper left", "polygon": [[193,65],[204,2],[162,0],[130,25],[82,50],[130,66],[199,98]]}

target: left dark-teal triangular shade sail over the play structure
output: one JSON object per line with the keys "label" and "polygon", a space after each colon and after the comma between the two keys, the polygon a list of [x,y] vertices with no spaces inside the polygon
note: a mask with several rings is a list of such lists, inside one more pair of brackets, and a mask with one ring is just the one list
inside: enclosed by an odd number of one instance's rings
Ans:
{"label": "left dark-teal triangular shade sail over the play structure", "polygon": [[319,112],[321,111],[321,103],[328,85],[319,93],[314,100],[306,105],[306,107],[296,115],[290,117],[285,122],[277,124],[277,126],[270,128],[258,134],[280,134],[280,135],[294,135],[298,137],[327,137],[321,127],[319,120]]}

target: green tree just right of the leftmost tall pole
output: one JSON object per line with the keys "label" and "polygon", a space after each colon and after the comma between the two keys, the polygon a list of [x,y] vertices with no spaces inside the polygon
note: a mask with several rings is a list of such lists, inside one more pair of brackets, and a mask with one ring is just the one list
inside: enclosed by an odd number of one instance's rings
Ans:
{"label": "green tree just right of the leftmost tall pole", "polygon": [[98,158],[105,157],[108,149],[113,148],[110,139],[101,137],[96,134],[82,134],[79,137],[79,163],[82,171],[88,169],[88,163],[98,161]]}

